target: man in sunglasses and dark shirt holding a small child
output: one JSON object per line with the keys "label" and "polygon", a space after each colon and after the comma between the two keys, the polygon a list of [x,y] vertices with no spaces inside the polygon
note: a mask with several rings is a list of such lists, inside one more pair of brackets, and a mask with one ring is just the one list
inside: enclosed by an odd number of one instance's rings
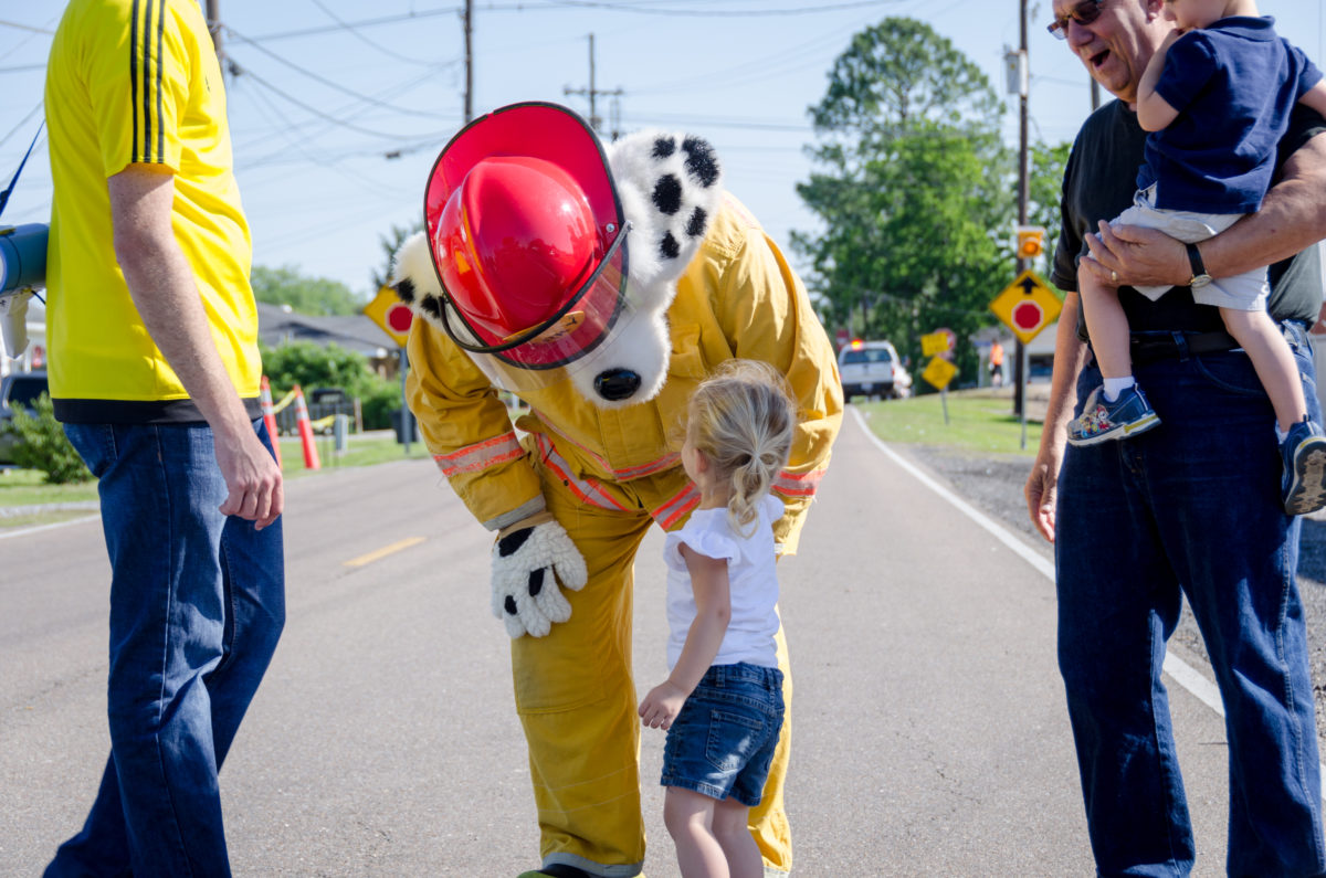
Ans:
{"label": "man in sunglasses and dark shirt holding a small child", "polygon": [[[1187,598],[1225,706],[1231,761],[1227,867],[1326,873],[1321,776],[1302,606],[1299,520],[1281,507],[1274,412],[1250,361],[1191,285],[1272,264],[1268,309],[1319,418],[1306,340],[1321,308],[1314,244],[1326,237],[1326,119],[1299,109],[1261,210],[1191,253],[1148,229],[1109,229],[1126,208],[1146,131],[1134,103],[1172,31],[1166,0],[1054,1],[1050,31],[1119,99],[1094,113],[1065,172],[1052,279],[1067,290],[1028,508],[1055,542],[1059,668],[1101,874],[1184,875],[1196,859],[1168,700],[1164,641]],[[1099,233],[1095,232],[1099,229]],[[1101,383],[1087,357],[1077,265],[1120,285],[1132,362],[1163,426],[1126,443],[1065,448]],[[1155,302],[1132,285],[1174,285]],[[1069,312],[1071,313],[1071,312]],[[1074,325],[1074,322],[1077,325]]]}

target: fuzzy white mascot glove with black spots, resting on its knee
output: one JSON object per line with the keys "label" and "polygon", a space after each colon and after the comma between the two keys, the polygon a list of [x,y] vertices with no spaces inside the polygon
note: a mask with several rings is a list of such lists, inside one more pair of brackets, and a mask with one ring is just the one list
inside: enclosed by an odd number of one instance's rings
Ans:
{"label": "fuzzy white mascot glove with black spots, resting on its knee", "polygon": [[579,592],[586,580],[583,556],[552,513],[540,512],[497,533],[492,609],[512,638],[544,637],[553,622],[572,618],[561,589]]}

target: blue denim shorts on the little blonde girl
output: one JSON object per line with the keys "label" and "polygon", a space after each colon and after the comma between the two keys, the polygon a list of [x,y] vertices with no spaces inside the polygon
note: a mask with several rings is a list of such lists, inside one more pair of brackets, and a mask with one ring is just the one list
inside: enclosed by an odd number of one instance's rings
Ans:
{"label": "blue denim shorts on the little blonde girl", "polygon": [[754,808],[781,728],[782,671],[715,664],[667,732],[662,784]]}

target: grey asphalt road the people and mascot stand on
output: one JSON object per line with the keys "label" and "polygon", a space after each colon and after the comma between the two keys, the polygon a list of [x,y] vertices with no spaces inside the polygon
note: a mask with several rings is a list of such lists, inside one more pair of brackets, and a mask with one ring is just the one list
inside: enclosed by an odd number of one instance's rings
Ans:
{"label": "grey asphalt road the people and mascot stand on", "polygon": [[[292,481],[285,528],[286,633],[221,776],[236,874],[534,866],[489,534],[427,462]],[[666,671],[660,550],[652,533],[636,565],[639,687]],[[1091,873],[1037,550],[1013,550],[849,416],[801,554],[780,565],[796,874]],[[0,538],[3,875],[40,874],[94,792],[107,577],[95,523]],[[1197,874],[1220,874],[1223,725],[1171,690]],[[662,743],[647,731],[642,748],[651,878],[676,874]]]}

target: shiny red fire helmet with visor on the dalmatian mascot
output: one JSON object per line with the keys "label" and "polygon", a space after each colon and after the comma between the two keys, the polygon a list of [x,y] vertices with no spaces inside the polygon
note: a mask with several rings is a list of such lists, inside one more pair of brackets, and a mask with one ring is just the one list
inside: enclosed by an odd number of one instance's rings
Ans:
{"label": "shiny red fire helmet with visor on the dalmatian mascot", "polygon": [[443,326],[472,354],[553,369],[617,320],[622,206],[598,138],[566,107],[514,103],[456,134],[428,178],[424,223]]}

